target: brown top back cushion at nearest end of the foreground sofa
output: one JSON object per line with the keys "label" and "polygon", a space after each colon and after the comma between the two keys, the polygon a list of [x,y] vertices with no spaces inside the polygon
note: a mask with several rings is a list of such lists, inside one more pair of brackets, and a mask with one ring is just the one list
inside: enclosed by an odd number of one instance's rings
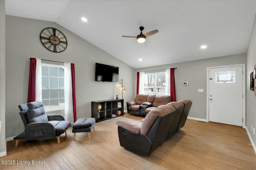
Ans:
{"label": "brown top back cushion at nearest end of the foreground sofa", "polygon": [[141,128],[140,128],[140,133],[142,135],[146,135],[150,128],[152,127],[153,123],[156,121],[158,116],[165,116],[172,111],[175,111],[175,108],[170,106],[170,105],[163,105],[159,106],[153,110],[151,110],[146,117],[144,118]]}

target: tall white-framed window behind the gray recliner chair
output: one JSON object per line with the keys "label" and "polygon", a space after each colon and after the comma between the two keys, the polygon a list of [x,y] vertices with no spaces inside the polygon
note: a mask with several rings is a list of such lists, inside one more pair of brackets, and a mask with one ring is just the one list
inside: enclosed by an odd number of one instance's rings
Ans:
{"label": "tall white-framed window behind the gray recliner chair", "polygon": [[45,109],[65,108],[63,66],[42,64],[42,103]]}

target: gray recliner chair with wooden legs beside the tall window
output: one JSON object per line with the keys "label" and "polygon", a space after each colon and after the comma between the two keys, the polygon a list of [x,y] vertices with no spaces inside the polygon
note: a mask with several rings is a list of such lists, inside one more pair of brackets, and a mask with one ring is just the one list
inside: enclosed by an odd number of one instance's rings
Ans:
{"label": "gray recliner chair with wooden legs beside the tall window", "polygon": [[[25,126],[25,132],[14,137],[15,147],[19,139],[37,140],[57,137],[60,143],[60,135],[70,126],[70,121],[65,121],[62,115],[46,115],[41,101],[19,105],[20,117]],[[66,134],[67,135],[67,134]]]}

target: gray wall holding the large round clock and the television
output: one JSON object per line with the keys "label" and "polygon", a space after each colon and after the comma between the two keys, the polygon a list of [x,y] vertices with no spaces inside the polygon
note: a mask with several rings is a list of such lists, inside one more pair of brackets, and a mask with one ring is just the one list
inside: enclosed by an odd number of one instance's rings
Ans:
{"label": "gray wall holding the large round clock and the television", "polygon": [[[39,35],[46,27],[66,35],[65,51],[53,53],[43,47]],[[75,64],[77,118],[91,117],[91,101],[113,99],[118,94],[117,82],[94,81],[95,63],[118,66],[119,79],[127,91],[124,102],[134,99],[135,72],[131,66],[54,22],[6,16],[6,138],[24,131],[18,105],[27,101],[31,57]]]}

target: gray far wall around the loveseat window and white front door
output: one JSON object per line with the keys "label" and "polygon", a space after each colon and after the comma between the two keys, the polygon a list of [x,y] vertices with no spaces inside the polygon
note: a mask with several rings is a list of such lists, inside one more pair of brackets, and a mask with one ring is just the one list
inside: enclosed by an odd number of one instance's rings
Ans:
{"label": "gray far wall around the loveseat window and white front door", "polygon": [[[246,63],[246,54],[238,54],[211,59],[166,64],[162,66],[138,68],[136,69],[136,72],[177,67],[174,72],[176,100],[191,100],[193,104],[188,116],[206,119],[206,67],[244,63]],[[134,81],[136,82],[136,80]],[[185,81],[188,81],[188,86],[182,85],[182,82]],[[198,92],[198,89],[204,89],[204,92]]]}

